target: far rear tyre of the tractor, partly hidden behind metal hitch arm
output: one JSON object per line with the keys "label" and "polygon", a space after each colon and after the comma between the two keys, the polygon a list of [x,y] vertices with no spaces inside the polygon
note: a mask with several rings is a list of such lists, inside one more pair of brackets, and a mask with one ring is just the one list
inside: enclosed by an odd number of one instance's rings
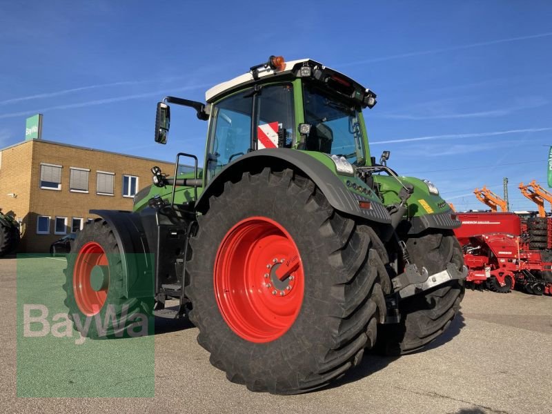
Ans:
{"label": "far rear tyre of the tractor, partly hidden behind metal hitch arm", "polygon": [[[449,230],[426,230],[410,237],[406,248],[416,266],[429,275],[445,270],[449,263],[457,270],[464,266],[458,240]],[[417,351],[448,328],[460,311],[464,280],[453,280],[399,302],[400,324],[381,325],[378,349],[388,355]]]}

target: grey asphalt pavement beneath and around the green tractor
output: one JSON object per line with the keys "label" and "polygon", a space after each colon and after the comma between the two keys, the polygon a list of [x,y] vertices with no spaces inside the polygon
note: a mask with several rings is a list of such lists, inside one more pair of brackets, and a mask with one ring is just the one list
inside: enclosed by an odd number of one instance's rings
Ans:
{"label": "grey asphalt pavement beneath and around the green tractor", "polygon": [[[46,263],[41,268],[54,273],[65,267],[61,258],[41,260]],[[197,328],[186,321],[157,319],[150,342],[155,359],[152,393],[147,391],[151,378],[121,377],[119,368],[102,373],[91,386],[97,384],[106,393],[121,387],[144,389],[145,397],[17,397],[24,394],[18,386],[28,387],[16,371],[16,344],[21,344],[16,285],[23,286],[23,267],[21,262],[17,266],[17,259],[0,259],[1,413],[552,413],[552,297],[471,290],[449,330],[424,351],[398,358],[365,355],[355,371],[322,391],[293,396],[251,393],[210,365],[208,353],[196,342]],[[41,272],[41,281],[48,282],[48,272]],[[59,278],[52,281],[59,285]],[[136,339],[128,341],[138,344]],[[19,352],[21,357],[21,345]],[[37,366],[47,366],[56,353],[57,348],[48,348]],[[124,351],[115,356],[125,363]],[[80,362],[70,366],[68,371],[78,371]],[[44,375],[48,370],[34,376]],[[72,377],[70,383],[88,384],[90,375]],[[52,381],[66,385],[69,376],[58,375]],[[85,387],[83,395],[86,391]]]}

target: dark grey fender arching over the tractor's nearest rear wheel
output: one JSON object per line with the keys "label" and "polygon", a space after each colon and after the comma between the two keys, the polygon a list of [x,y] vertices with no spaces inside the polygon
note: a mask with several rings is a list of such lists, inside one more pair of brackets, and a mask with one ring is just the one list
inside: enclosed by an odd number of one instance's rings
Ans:
{"label": "dark grey fender arching over the tractor's nearest rear wheel", "polygon": [[[231,162],[206,186],[197,200],[196,209],[201,213],[205,213],[208,210],[209,197],[221,193],[226,181],[236,181],[239,177],[242,177],[244,171],[260,172],[265,167],[287,167],[299,170],[303,175],[314,181],[315,185],[324,193],[328,202],[336,210],[382,224],[391,223],[391,217],[387,209],[375,195],[368,198],[353,193],[335,175],[335,172],[322,164],[321,161],[308,155],[308,152],[288,148],[257,150],[242,155],[242,157]],[[371,201],[371,208],[360,208],[359,201]]]}

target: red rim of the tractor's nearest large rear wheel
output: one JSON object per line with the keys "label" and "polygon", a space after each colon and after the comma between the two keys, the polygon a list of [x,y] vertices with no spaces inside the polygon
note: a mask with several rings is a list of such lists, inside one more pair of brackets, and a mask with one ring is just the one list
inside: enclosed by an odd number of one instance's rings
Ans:
{"label": "red rim of the tractor's nearest large rear wheel", "polygon": [[304,270],[299,250],[273,219],[250,217],[230,228],[217,250],[213,277],[221,316],[250,342],[281,337],[301,309]]}

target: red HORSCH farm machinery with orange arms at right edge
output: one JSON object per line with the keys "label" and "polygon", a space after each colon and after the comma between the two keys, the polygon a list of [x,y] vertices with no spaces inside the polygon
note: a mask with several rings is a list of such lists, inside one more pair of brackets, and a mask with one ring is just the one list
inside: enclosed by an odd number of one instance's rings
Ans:
{"label": "red HORSCH farm machinery with orange arms at right edge", "polygon": [[535,181],[519,188],[538,205],[538,217],[507,213],[507,201],[485,187],[474,193],[491,207],[490,213],[458,213],[462,226],[455,234],[469,268],[466,282],[499,293],[517,288],[552,295],[552,219],[544,210],[544,201],[552,202],[552,195]]}

